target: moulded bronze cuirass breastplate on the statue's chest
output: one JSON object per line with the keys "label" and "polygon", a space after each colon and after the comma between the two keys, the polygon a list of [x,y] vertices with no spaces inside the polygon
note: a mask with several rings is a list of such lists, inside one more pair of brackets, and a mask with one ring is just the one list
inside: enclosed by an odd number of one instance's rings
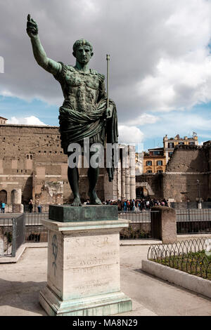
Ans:
{"label": "moulded bronze cuirass breastplate on the statue's chest", "polygon": [[84,74],[67,70],[65,75],[64,107],[73,107],[79,112],[91,112],[96,108],[99,80],[96,74]]}

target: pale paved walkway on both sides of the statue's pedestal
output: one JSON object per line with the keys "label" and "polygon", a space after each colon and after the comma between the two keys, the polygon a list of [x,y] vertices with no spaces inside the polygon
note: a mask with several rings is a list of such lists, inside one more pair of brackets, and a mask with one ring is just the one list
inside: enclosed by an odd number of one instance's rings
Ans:
{"label": "pale paved walkway on both sides of the statue's pedestal", "polygon": [[[121,315],[211,315],[211,301],[141,272],[148,246],[120,246],[121,289],[133,311]],[[39,291],[46,286],[47,248],[28,248],[18,263],[0,264],[0,315],[46,315]]]}

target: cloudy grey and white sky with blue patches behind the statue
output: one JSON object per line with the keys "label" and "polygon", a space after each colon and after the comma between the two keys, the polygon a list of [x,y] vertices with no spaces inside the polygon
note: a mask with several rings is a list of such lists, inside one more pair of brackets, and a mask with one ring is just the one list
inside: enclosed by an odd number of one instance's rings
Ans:
{"label": "cloudy grey and white sky with blue patches behind the statue", "polygon": [[28,13],[53,60],[75,65],[72,44],[88,39],[90,67],[106,74],[110,53],[120,142],[211,140],[211,0],[0,0],[0,116],[58,126],[62,91],[34,60]]}

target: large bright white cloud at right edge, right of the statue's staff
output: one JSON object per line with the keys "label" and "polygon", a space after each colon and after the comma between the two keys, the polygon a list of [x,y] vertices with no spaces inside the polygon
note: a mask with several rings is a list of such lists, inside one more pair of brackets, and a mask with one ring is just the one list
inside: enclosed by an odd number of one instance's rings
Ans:
{"label": "large bright white cloud at right edge, right of the statue's staff", "polygon": [[161,58],[154,76],[144,78],[137,89],[153,111],[186,110],[210,102],[211,56],[198,51],[176,60]]}

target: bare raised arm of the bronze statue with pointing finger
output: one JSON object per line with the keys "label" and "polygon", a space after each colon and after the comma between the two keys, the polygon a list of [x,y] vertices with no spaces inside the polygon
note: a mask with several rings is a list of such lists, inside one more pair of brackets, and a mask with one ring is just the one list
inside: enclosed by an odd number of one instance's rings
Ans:
{"label": "bare raised arm of the bronze statue with pointing finger", "polygon": [[44,70],[54,75],[57,74],[58,70],[61,69],[61,64],[51,60],[51,58],[47,58],[46,52],[39,40],[37,23],[30,17],[30,14],[27,16],[27,34],[31,39],[34,58],[37,63]]}

